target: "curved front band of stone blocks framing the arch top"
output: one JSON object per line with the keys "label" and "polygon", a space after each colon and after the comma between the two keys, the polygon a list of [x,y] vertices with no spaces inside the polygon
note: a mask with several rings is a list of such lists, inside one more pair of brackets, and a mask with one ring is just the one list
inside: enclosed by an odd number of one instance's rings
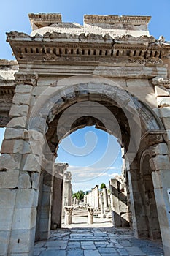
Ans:
{"label": "curved front band of stone blocks framing the arch top", "polygon": [[[130,128],[133,129],[133,125],[137,125],[141,129],[141,135],[144,135],[146,132],[158,132],[164,129],[160,118],[158,118],[149,106],[120,87],[107,83],[79,83],[74,84],[74,86],[61,86],[61,88],[54,86],[55,83],[45,91],[45,95],[47,96],[45,102],[42,102],[43,94],[37,99],[36,106],[38,106],[38,111],[36,107],[33,109],[29,121],[29,129],[31,131],[36,130],[45,135],[46,132],[49,132],[47,130],[55,116],[61,115],[69,106],[85,101],[107,102],[115,110],[122,110],[126,119],[134,119]],[[96,127],[105,129],[98,122],[96,122]],[[74,127],[72,131],[75,129]],[[61,138],[65,134],[68,134],[68,132],[70,131],[67,131],[67,133],[63,132]],[[113,131],[107,129],[107,132],[112,133]],[[120,141],[120,143],[123,145],[123,141]]]}

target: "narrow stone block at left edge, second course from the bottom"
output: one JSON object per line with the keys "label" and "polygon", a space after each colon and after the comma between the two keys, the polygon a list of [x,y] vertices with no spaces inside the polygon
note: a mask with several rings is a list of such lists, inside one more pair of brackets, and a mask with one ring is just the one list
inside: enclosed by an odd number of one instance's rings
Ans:
{"label": "narrow stone block at left edge, second course from the bottom", "polygon": [[0,211],[0,230],[11,230],[13,208],[3,208]]}

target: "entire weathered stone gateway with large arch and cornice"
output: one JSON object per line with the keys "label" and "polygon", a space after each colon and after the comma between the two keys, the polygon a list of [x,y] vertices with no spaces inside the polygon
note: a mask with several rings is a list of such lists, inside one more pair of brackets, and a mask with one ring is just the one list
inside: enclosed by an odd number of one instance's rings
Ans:
{"label": "entire weathered stone gateway with large arch and cornice", "polygon": [[92,124],[125,152],[134,236],[162,238],[169,255],[169,43],[149,35],[150,17],[29,17],[31,36],[7,34],[17,63],[1,61],[0,255],[31,255],[60,227],[58,143]]}

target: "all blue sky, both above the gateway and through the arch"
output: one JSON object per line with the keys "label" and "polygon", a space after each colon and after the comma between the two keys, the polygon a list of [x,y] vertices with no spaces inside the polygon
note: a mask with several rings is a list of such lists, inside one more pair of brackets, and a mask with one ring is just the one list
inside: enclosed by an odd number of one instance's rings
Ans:
{"label": "all blue sky, both above the gateway and through the arch", "polygon": [[[48,1],[21,1],[8,0],[1,1],[1,15],[0,15],[0,58],[1,59],[15,59],[12,56],[12,50],[6,42],[7,31],[23,31],[27,34],[31,32],[31,26],[28,20],[28,13],[34,12],[58,12],[62,14],[62,19],[65,22],[76,22],[82,24],[84,14],[99,14],[99,15],[151,15],[149,30],[155,38],[158,39],[160,35],[170,41],[170,19],[169,19],[170,1],[127,1],[127,0],[105,0],[105,1],[81,1],[81,0],[48,0]],[[3,137],[3,131],[0,129],[0,139]],[[85,137],[86,136],[86,137]],[[88,138],[90,138],[88,140]],[[87,141],[85,141],[87,139]],[[121,167],[120,147],[116,139],[107,133],[88,127],[74,132],[71,135],[71,140],[74,146],[80,148],[84,152],[89,145],[89,153],[85,156],[75,156],[75,151],[72,151],[72,145],[66,138],[63,140],[58,149],[58,161],[69,162],[69,170],[73,173],[73,189],[90,189],[101,182],[109,183],[109,178],[113,173],[119,173]],[[90,144],[88,144],[90,141]],[[86,142],[88,142],[86,144]],[[104,158],[104,163],[107,173],[104,173],[104,166],[99,161],[102,159],[104,152],[107,151],[109,142],[112,142],[111,163],[107,157]],[[0,142],[1,143],[1,142]],[[94,147],[94,148],[93,148]],[[67,151],[67,152],[66,152]],[[68,151],[71,151],[68,154]],[[84,168],[80,169],[81,166]],[[105,169],[106,169],[105,168]],[[86,170],[86,172],[85,172]],[[100,175],[100,176],[98,176]],[[95,176],[98,178],[94,179]]]}

